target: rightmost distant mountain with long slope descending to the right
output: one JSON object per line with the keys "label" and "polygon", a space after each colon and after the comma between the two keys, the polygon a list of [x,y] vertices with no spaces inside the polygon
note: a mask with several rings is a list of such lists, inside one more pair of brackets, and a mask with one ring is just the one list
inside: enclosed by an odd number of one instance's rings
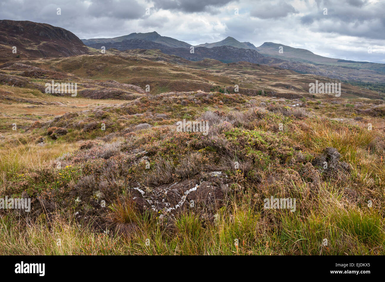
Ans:
{"label": "rightmost distant mountain with long slope descending to the right", "polygon": [[[282,47],[282,53],[279,52],[280,47]],[[261,46],[257,47],[256,50],[263,55],[281,58],[283,60],[311,63],[313,65],[321,64],[356,69],[364,68],[385,73],[385,64],[383,63],[356,62],[350,60],[341,60],[337,58],[328,58],[316,55],[315,53],[306,49],[293,48],[287,45],[273,42],[265,42]]]}

